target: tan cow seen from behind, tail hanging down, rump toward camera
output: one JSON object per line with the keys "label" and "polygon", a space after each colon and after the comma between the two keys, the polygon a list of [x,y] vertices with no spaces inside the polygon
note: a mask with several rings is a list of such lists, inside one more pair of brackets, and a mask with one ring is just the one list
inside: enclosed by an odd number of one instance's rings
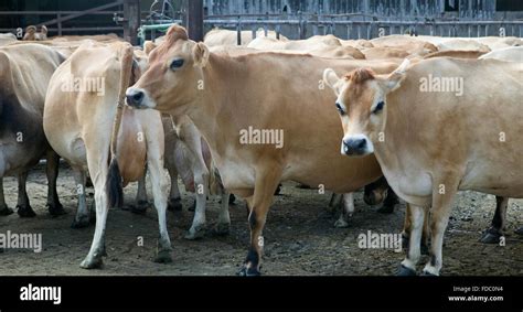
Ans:
{"label": "tan cow seen from behind, tail hanging down, rump toward camera", "polygon": [[[84,190],[87,170],[95,189],[95,235],[81,263],[84,269],[102,266],[108,208],[121,205],[121,187],[143,175],[146,162],[160,229],[154,261],[172,261],[166,223],[161,116],[158,111],[131,110],[121,105],[125,89],[145,66],[147,60],[139,57],[128,43],[87,41],[56,69],[50,82],[44,131],[50,144],[74,172],[79,195],[74,226],[88,222]],[[74,87],[76,84],[81,87]]]}

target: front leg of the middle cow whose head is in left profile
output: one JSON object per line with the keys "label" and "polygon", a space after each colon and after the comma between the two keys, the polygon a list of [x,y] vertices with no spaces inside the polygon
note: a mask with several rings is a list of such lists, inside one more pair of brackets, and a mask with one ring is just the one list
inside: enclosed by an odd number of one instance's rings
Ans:
{"label": "front leg of the middle cow whose head is in left profile", "polygon": [[259,276],[260,260],[264,250],[263,230],[270,208],[273,194],[281,177],[281,169],[276,164],[269,164],[266,172],[256,172],[254,195],[249,203],[250,213],[248,224],[250,226],[250,248],[245,259],[241,276]]}

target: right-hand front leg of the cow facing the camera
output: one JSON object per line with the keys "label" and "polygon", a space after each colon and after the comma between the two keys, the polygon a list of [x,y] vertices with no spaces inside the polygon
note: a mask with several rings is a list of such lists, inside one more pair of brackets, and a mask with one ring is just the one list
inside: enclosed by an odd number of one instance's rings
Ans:
{"label": "right-hand front leg of the cow facing the camera", "polygon": [[[450,177],[448,179],[450,180]],[[449,223],[452,201],[458,190],[458,183],[452,181],[445,185],[446,192],[439,193],[439,187],[433,192],[433,208],[430,215],[430,260],[425,266],[423,273],[428,276],[438,276],[442,266],[442,247],[445,229]]]}

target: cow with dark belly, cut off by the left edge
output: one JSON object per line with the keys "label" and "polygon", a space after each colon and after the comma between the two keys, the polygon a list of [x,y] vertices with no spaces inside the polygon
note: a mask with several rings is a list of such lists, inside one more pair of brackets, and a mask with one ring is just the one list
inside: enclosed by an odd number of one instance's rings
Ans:
{"label": "cow with dark belly, cut off by the left edge", "polygon": [[18,214],[35,216],[25,190],[29,171],[46,159],[47,209],[64,214],[56,193],[58,157],[42,128],[45,93],[53,72],[64,61],[42,45],[0,47],[0,215],[12,214],[3,196],[3,176],[18,176]]}

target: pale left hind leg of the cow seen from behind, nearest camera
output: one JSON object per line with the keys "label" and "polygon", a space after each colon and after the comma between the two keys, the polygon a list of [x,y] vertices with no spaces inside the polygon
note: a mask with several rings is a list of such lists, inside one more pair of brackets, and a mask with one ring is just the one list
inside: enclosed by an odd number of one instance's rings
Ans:
{"label": "pale left hind leg of the cow seen from behind, nearest camera", "polygon": [[[93,133],[95,137],[97,133]],[[103,138],[103,136],[100,135]],[[103,265],[102,257],[105,252],[105,229],[107,222],[107,214],[109,212],[109,201],[107,194],[107,174],[109,144],[103,140],[89,140],[86,138],[87,147],[87,166],[89,175],[95,187],[95,205],[96,205],[96,225],[95,235],[90,245],[89,252],[79,265],[84,269],[100,268]],[[92,144],[89,144],[92,143]],[[104,144],[105,143],[105,144]],[[90,148],[89,148],[90,147]]]}

